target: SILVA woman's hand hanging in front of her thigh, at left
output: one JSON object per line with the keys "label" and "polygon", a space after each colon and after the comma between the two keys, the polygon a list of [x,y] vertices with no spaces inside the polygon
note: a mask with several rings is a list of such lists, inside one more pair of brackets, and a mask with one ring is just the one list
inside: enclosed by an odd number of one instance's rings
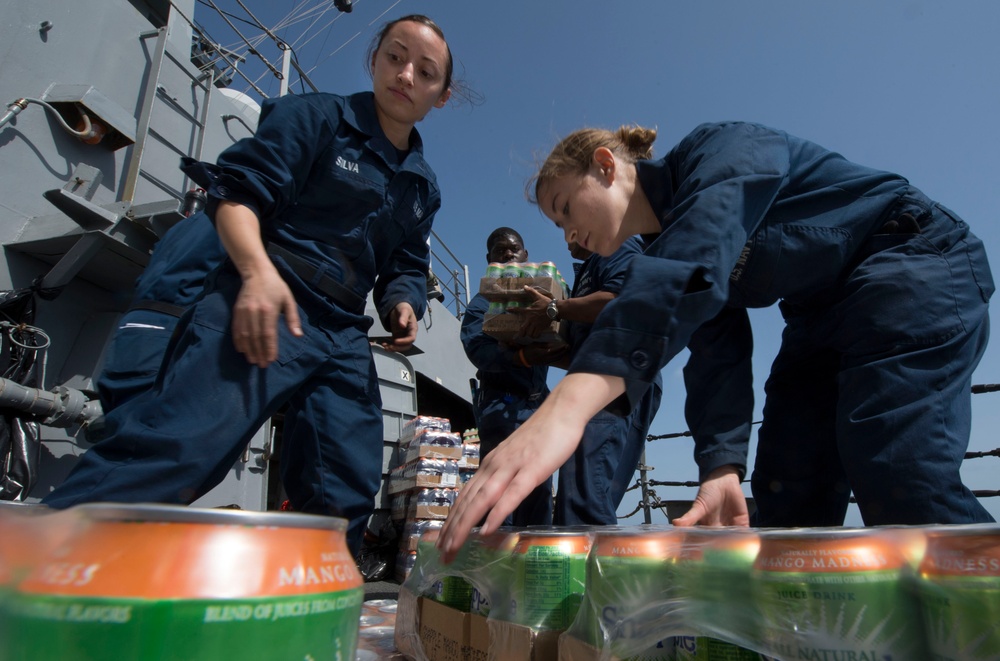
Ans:
{"label": "SILVA woman's hand hanging in front of her thigh, at left", "polygon": [[280,315],[292,335],[301,337],[298,305],[278,271],[271,267],[244,276],[233,305],[233,344],[248,363],[263,368],[278,358]]}

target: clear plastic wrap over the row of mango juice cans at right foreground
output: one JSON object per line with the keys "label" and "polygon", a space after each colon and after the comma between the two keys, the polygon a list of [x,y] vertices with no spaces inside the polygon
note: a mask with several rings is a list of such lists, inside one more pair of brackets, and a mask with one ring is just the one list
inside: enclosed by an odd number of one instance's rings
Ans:
{"label": "clear plastic wrap over the row of mango juice cans at right foreground", "polygon": [[[569,549],[578,542],[554,550],[560,535],[546,529],[473,535],[450,565],[431,532],[404,588],[420,596],[446,576],[467,581],[470,612],[491,625],[491,649],[504,645],[494,624],[539,636],[565,629],[565,661],[1000,659],[996,524],[562,534],[583,535],[590,547],[582,585],[567,592],[546,581],[573,580],[578,554]],[[539,538],[551,557],[528,573],[523,551]],[[567,605],[575,611],[568,620]],[[403,618],[397,627],[413,657],[426,658],[418,623]]]}

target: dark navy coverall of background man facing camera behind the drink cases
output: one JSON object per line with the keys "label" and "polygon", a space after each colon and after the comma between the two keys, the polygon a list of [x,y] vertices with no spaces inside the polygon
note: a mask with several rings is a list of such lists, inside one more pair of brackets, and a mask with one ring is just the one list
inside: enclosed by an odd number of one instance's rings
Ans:
{"label": "dark navy coverall of background man facing camera behind the drink cases", "polygon": [[[476,366],[479,388],[473,413],[479,429],[480,457],[496,449],[531,414],[538,410],[549,387],[548,365],[521,367],[516,349],[483,332],[483,318],[490,303],[476,294],[462,316],[462,346]],[[552,479],[528,494],[506,521],[506,525],[550,525],[552,523]]]}

